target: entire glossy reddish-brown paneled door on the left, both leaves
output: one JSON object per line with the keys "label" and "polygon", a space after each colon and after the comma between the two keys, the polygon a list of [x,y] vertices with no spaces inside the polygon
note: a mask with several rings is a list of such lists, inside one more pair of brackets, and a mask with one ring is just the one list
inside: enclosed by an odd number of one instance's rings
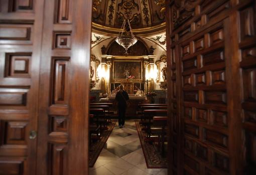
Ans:
{"label": "entire glossy reddish-brown paneled door on the left, both leaves", "polygon": [[0,0],[0,174],[88,174],[91,7]]}

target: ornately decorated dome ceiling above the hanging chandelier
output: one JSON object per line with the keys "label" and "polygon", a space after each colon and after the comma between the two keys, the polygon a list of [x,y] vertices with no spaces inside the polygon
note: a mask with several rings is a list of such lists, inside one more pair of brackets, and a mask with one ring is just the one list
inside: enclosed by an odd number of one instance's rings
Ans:
{"label": "ornately decorated dome ceiling above the hanging chandelier", "polygon": [[135,33],[143,29],[163,30],[165,0],[93,0],[94,28],[102,29],[103,26],[116,33],[126,18],[130,20]]}

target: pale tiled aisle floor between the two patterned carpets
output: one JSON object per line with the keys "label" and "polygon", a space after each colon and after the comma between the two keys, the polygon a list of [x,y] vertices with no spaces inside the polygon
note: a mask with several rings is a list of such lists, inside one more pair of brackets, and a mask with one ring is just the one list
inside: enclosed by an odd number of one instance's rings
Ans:
{"label": "pale tiled aisle floor between the two patterned carpets", "polygon": [[89,175],[165,175],[167,169],[147,168],[140,139],[133,120],[126,120],[125,127],[114,127]]}

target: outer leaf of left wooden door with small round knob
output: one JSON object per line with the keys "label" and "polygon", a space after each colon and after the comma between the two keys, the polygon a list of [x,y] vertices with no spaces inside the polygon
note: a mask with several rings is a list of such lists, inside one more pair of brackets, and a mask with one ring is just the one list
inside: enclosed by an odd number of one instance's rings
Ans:
{"label": "outer leaf of left wooden door with small round knob", "polygon": [[36,174],[43,2],[0,1],[0,174]]}

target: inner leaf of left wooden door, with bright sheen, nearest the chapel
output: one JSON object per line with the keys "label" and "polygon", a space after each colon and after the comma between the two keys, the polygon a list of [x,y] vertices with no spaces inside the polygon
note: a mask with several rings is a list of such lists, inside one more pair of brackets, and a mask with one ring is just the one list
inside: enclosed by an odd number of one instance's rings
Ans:
{"label": "inner leaf of left wooden door, with bright sheen, nearest the chapel", "polygon": [[37,174],[88,174],[92,1],[45,1]]}

